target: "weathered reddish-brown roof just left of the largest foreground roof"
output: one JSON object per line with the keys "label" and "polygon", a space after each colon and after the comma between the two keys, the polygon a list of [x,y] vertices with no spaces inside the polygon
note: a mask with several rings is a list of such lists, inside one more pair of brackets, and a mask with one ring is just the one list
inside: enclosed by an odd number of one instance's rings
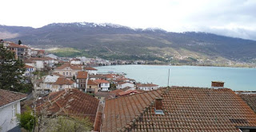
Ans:
{"label": "weathered reddish-brown roof just left of the largest foreground roof", "polygon": [[[78,89],[52,92],[36,102],[36,110],[46,111],[46,115],[89,118],[93,124],[92,131],[100,130],[102,118],[102,104],[92,95]],[[44,131],[44,130],[42,130]]]}

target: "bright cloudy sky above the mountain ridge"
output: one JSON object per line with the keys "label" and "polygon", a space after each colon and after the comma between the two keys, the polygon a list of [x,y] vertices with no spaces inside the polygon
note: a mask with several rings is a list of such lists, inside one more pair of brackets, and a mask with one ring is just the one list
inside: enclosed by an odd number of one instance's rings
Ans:
{"label": "bright cloudy sky above the mountain ridge", "polygon": [[96,22],[256,40],[256,0],[2,0],[0,25]]}

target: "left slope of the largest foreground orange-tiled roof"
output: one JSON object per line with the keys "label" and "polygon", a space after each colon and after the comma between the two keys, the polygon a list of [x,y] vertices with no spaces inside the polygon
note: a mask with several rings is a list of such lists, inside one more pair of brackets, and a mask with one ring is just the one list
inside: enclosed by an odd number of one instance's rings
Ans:
{"label": "left slope of the largest foreground orange-tiled roof", "polygon": [[134,118],[141,115],[162,90],[145,92],[136,95],[127,95],[117,99],[106,100],[102,131],[118,131],[129,124]]}

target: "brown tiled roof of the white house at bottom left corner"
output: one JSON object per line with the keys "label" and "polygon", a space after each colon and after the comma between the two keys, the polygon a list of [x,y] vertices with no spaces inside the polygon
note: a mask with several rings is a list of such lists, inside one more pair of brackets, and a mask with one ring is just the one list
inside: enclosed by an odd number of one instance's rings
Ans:
{"label": "brown tiled roof of the white house at bottom left corner", "polygon": [[0,89],[0,107],[24,98],[26,94]]}

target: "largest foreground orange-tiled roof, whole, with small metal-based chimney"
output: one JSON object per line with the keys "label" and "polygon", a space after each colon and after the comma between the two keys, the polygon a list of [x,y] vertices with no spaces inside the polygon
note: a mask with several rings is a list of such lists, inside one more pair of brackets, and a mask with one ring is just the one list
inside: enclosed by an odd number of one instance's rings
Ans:
{"label": "largest foreground orange-tiled roof, whole, with small metal-based chimney", "polygon": [[254,111],[228,88],[165,87],[126,95],[106,100],[103,115],[102,132],[246,132],[256,128]]}

